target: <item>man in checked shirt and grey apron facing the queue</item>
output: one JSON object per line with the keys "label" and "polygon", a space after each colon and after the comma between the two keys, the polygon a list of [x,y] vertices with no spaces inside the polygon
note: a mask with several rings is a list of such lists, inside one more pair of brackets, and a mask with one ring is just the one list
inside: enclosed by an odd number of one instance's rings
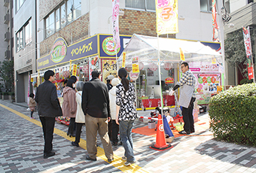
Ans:
{"label": "man in checked shirt and grey apron facing the queue", "polygon": [[196,100],[196,95],[194,93],[194,86],[196,84],[196,77],[189,70],[187,62],[181,63],[181,71],[183,73],[181,81],[177,82],[173,90],[170,91],[169,95],[175,92],[178,87],[181,86],[181,95],[178,100],[178,105],[182,106],[182,115],[184,120],[184,130],[178,132],[181,135],[189,135],[190,133],[195,132],[194,129],[194,101]]}

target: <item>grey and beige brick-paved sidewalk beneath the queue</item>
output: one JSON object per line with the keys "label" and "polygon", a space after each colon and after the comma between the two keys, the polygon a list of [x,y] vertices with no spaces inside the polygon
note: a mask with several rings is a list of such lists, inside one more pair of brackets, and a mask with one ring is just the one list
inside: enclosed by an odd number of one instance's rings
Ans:
{"label": "grey and beige brick-paved sidewalk beneath the queue", "polygon": [[[43,159],[44,139],[38,126],[38,114],[34,114],[35,120],[30,120],[26,107],[3,100],[0,104],[0,172],[256,172],[255,147],[215,141],[209,129],[175,138],[173,148],[164,151],[149,148],[155,138],[133,133],[138,162],[126,167],[120,160],[122,146],[113,147],[115,159],[112,163],[105,161],[104,154],[99,154],[96,162],[87,161],[87,150],[83,148],[85,128],[82,129],[81,147],[73,147],[69,140],[75,138],[66,136],[68,126],[56,123],[53,138],[56,155]],[[209,119],[209,115],[201,115],[200,119]],[[135,128],[146,125],[136,121]],[[100,153],[99,137],[98,142]]]}

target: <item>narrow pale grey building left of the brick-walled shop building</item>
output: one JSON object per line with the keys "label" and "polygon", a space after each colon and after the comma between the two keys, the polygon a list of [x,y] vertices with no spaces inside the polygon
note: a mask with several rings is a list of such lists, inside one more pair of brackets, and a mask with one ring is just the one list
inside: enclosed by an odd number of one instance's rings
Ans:
{"label": "narrow pale grey building left of the brick-walled shop building", "polygon": [[27,102],[29,76],[36,72],[37,1],[14,0],[14,87],[15,101]]}

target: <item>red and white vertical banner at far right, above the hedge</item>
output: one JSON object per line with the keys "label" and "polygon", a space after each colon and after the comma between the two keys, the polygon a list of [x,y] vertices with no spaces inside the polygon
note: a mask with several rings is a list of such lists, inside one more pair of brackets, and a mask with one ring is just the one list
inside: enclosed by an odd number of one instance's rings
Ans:
{"label": "red and white vertical banner at far right, above the hedge", "polygon": [[243,33],[243,38],[245,42],[245,52],[246,52],[246,57],[248,60],[248,79],[251,80],[254,78],[254,69],[252,65],[252,53],[251,53],[251,37],[250,37],[250,29],[249,26],[246,29],[245,27],[242,27],[242,33]]}

